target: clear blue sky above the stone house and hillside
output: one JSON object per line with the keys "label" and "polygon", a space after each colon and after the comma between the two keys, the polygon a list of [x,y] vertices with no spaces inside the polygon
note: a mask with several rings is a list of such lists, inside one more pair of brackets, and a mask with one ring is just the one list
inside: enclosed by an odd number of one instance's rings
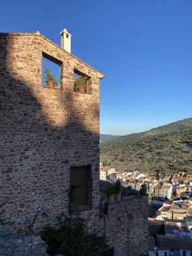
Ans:
{"label": "clear blue sky above the stone house and hillside", "polygon": [[192,117],[191,0],[1,1],[1,32],[35,32],[106,75],[100,132],[145,131]]}

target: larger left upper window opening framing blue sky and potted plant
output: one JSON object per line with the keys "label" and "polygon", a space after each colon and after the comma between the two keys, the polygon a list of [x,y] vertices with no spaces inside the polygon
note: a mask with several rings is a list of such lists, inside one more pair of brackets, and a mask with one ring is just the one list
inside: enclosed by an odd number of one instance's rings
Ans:
{"label": "larger left upper window opening framing blue sky and potted plant", "polygon": [[42,53],[42,86],[48,88],[61,88],[61,71],[62,62]]}

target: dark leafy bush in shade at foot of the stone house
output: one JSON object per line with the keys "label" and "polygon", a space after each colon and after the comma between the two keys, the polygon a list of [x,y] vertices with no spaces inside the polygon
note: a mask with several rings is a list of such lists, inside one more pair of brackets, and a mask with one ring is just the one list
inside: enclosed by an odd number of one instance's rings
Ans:
{"label": "dark leafy bush in shade at foot of the stone house", "polygon": [[86,222],[82,218],[68,219],[58,230],[46,228],[40,236],[48,245],[46,252],[51,256],[79,256],[79,253],[84,256],[98,256],[108,250],[105,238],[88,232]]}

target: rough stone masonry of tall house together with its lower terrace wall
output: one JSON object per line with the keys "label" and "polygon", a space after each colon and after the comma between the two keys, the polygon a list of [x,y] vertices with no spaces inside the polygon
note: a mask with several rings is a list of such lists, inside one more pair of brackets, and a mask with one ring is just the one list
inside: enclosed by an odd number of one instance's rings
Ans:
{"label": "rough stone masonry of tall house together with its lower terrace wall", "polygon": [[[42,87],[42,56],[60,65],[60,89]],[[74,70],[90,77],[90,93],[74,92]],[[146,196],[109,205],[108,216],[99,216],[103,77],[39,33],[0,33],[0,219],[22,232],[58,226],[69,216],[70,168],[91,166],[91,204],[81,216],[115,255],[142,255]]]}

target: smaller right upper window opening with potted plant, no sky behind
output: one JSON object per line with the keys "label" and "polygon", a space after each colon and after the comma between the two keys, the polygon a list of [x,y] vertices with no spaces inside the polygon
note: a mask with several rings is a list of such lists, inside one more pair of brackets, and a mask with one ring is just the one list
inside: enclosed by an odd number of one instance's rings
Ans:
{"label": "smaller right upper window opening with potted plant, no sky behind", "polygon": [[90,77],[74,69],[74,92],[90,93]]}

